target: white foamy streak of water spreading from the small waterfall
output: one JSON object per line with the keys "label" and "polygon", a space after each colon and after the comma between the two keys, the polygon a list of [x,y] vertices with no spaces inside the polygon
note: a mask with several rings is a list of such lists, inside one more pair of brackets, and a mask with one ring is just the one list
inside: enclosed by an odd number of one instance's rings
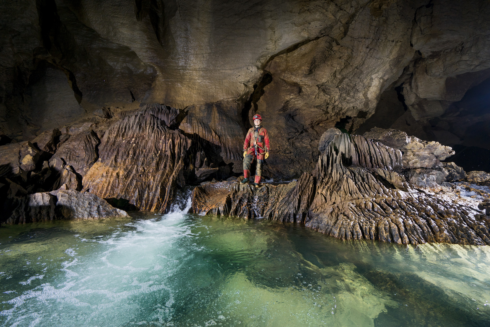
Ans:
{"label": "white foamy streak of water spreading from the small waterfall", "polygon": [[[190,207],[189,198],[183,210],[174,205],[169,214],[126,224],[132,230],[118,230],[108,237],[84,239],[76,235],[78,246],[64,251],[71,259],[61,263],[62,274],[8,301],[11,307],[0,315],[7,317],[7,326],[102,326],[102,321],[103,326],[138,324],[141,299],[156,295],[165,308],[148,308],[148,315],[152,323],[156,319],[164,324],[172,316],[174,302],[168,279],[188,256],[174,244],[192,235],[192,224],[186,222]],[[91,252],[83,251],[86,245],[92,245]],[[43,277],[32,276],[21,284],[31,285]],[[73,323],[64,311],[77,312],[83,324]]]}

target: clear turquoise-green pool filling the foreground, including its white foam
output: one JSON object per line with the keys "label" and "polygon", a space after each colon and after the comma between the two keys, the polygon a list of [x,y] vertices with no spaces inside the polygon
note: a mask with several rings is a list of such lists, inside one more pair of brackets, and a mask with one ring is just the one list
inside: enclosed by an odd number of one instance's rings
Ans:
{"label": "clear turquoise-green pool filling the foreground, including its white foam", "polygon": [[490,326],[490,247],[184,212],[1,227],[0,326]]}

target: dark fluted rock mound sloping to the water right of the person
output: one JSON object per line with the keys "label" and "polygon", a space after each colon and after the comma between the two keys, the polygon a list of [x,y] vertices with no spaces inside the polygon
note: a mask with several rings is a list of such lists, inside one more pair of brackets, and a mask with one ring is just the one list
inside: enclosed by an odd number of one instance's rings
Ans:
{"label": "dark fluted rock mound sloping to the water right of the person", "polygon": [[[348,156],[348,152],[337,153],[335,149],[346,144],[361,149],[359,145],[369,142],[363,139],[336,136],[320,156],[317,193],[306,226],[341,239],[490,244],[489,226],[474,218],[478,210],[472,203],[420,190],[408,183],[397,188],[388,179],[373,174],[369,163],[353,161],[352,165],[345,165],[342,157],[343,153]],[[374,151],[359,152],[378,156]]]}

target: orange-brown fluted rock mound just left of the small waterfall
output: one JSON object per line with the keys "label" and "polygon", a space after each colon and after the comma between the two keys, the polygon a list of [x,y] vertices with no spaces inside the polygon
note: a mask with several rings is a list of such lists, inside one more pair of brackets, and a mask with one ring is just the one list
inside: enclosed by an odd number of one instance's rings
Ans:
{"label": "orange-brown fluted rock mound just left of the small waterfall", "polygon": [[183,178],[190,146],[190,139],[148,111],[124,117],[103,133],[98,160],[83,177],[83,189],[165,212]]}

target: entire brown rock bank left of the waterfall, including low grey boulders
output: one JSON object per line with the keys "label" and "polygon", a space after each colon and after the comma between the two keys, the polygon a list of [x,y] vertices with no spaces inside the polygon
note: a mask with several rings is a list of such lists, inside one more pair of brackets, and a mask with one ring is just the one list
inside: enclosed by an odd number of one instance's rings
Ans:
{"label": "entire brown rock bank left of the waterfall, including low grey boulders", "polygon": [[177,188],[231,176],[215,144],[177,128],[185,117],[161,104],[104,107],[32,143],[0,146],[0,222],[166,213]]}

